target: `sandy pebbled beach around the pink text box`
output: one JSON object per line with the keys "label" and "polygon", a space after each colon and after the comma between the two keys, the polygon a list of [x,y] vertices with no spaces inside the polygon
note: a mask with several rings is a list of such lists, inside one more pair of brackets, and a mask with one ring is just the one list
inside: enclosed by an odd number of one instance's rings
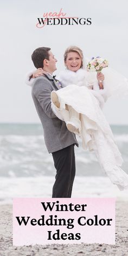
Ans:
{"label": "sandy pebbled beach around the pink text box", "polygon": [[36,245],[12,246],[12,206],[0,207],[0,255],[2,256],[40,256],[40,255],[128,255],[128,202],[116,203],[116,245]]}

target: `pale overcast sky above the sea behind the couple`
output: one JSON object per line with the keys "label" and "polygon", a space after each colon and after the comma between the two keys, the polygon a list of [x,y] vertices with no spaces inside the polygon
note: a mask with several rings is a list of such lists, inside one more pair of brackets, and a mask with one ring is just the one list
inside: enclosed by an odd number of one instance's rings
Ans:
{"label": "pale overcast sky above the sea behind the couple", "polygon": [[[31,53],[37,47],[52,48],[57,73],[64,69],[63,53],[70,45],[79,46],[85,56],[106,57],[110,66],[128,78],[127,0],[0,0],[1,3],[1,94],[0,122],[40,123],[31,88],[25,74],[33,69]],[[44,12],[92,18],[92,25],[49,25],[36,28]],[[128,97],[108,100],[105,115],[110,124],[128,124]]]}

